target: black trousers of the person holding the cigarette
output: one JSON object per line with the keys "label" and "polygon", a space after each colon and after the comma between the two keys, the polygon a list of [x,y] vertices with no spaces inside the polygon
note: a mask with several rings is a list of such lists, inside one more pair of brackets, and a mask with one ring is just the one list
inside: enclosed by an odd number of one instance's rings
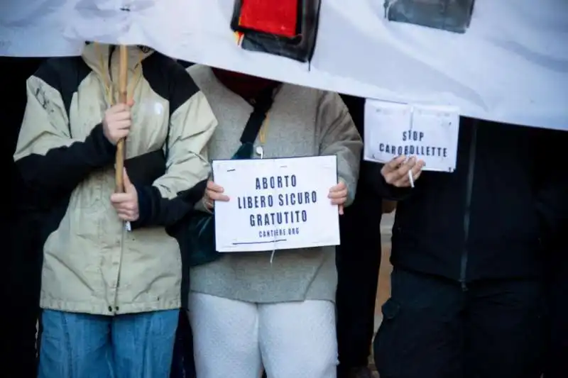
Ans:
{"label": "black trousers of the person holding the cigarette", "polygon": [[532,279],[457,282],[396,269],[375,339],[381,378],[540,378],[545,301]]}

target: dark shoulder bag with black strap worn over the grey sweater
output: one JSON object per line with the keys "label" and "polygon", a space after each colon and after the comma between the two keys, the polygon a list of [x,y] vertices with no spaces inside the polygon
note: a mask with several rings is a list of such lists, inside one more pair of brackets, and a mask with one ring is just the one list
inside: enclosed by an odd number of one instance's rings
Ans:
{"label": "dark shoulder bag with black strap worn over the grey sweater", "polygon": [[[233,159],[251,159],[254,140],[261,130],[266,113],[272,106],[273,89],[273,87],[265,89],[253,101],[254,110],[241,135],[241,147],[235,152]],[[182,263],[185,262],[190,267],[207,264],[221,257],[215,248],[213,213],[191,211],[167,231],[170,235],[174,235],[180,244]]]}

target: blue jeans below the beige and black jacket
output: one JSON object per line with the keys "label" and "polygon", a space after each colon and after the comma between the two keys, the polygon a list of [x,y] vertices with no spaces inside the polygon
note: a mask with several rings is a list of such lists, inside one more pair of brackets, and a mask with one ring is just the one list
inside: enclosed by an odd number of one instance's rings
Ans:
{"label": "blue jeans below the beige and black jacket", "polygon": [[179,312],[44,310],[38,378],[168,378]]}

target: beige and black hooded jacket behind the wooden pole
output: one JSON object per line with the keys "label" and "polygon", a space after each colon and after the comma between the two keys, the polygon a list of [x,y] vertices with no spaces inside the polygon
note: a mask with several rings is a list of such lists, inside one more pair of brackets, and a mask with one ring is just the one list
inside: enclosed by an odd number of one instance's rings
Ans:
{"label": "beige and black hooded jacket behind the wooden pole", "polygon": [[82,57],[48,60],[27,82],[14,159],[43,213],[43,308],[114,315],[180,306],[180,252],[163,227],[179,214],[155,206],[207,178],[217,121],[177,62],[129,48],[126,167],[147,209],[134,225],[144,227],[127,232],[109,199],[116,151],[102,131],[118,70],[118,49],[89,44]]}

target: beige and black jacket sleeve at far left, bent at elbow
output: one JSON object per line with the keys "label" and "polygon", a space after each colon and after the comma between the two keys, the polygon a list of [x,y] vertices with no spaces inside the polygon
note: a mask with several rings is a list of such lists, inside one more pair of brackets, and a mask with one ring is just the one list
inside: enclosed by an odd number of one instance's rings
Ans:
{"label": "beige and black jacket sleeve at far left, bent at elbow", "polygon": [[112,164],[115,147],[95,126],[84,140],[72,138],[57,86],[59,73],[45,62],[28,79],[26,112],[14,160],[24,184],[48,196],[70,193],[95,169]]}

